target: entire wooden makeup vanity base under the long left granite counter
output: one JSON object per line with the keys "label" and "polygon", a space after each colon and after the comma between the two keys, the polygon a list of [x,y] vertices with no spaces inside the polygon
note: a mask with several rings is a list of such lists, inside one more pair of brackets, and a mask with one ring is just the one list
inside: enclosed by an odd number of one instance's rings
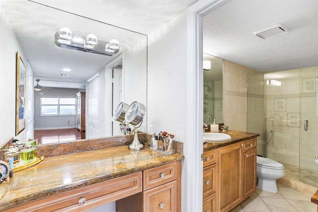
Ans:
{"label": "entire wooden makeup vanity base under the long left granite counter", "polygon": [[116,212],[180,212],[181,161],[29,202],[4,212],[81,212],[116,201]]}

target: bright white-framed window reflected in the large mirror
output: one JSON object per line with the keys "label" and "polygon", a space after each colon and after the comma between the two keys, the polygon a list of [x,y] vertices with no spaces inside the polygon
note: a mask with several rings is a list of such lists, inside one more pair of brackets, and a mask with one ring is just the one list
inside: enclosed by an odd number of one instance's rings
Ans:
{"label": "bright white-framed window reflected in the large mirror", "polygon": [[76,98],[41,98],[41,115],[76,115]]}

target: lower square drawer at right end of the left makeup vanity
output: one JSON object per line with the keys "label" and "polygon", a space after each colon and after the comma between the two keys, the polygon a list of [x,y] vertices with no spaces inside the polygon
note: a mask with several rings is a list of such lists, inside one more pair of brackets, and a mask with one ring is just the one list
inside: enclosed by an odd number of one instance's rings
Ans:
{"label": "lower square drawer at right end of the left makeup vanity", "polygon": [[176,212],[177,183],[172,181],[144,192],[144,212]]}

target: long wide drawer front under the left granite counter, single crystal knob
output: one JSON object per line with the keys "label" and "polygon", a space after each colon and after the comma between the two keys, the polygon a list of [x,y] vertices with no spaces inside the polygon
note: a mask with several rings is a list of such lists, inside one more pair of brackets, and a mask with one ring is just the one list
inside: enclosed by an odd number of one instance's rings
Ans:
{"label": "long wide drawer front under the left granite counter, single crystal knob", "polygon": [[[50,196],[8,209],[7,211],[85,211],[140,192],[142,192],[142,173],[138,172]],[[82,201],[82,204],[79,204],[80,201]]]}

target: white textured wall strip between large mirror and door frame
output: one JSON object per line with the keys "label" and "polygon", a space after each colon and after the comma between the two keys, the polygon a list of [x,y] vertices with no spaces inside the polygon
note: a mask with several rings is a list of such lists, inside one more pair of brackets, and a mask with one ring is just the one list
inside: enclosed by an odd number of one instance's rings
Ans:
{"label": "white textured wall strip between large mirror and door frame", "polygon": [[[174,133],[187,147],[187,15],[181,13],[148,36],[148,124]],[[189,141],[190,142],[190,141]],[[193,142],[193,141],[191,141]],[[186,212],[187,157],[182,162],[182,211]]]}

